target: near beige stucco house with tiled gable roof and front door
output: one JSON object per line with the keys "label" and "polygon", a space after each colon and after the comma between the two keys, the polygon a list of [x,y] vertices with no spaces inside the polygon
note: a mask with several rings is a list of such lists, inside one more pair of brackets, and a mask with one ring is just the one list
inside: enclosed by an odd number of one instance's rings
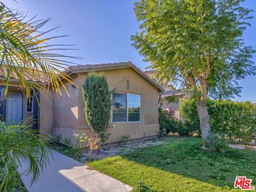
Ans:
{"label": "near beige stucco house with tiled gable roof and front door", "polygon": [[[39,124],[34,128],[50,135],[61,135],[61,141],[68,138],[74,143],[74,134],[77,133],[86,133],[87,137],[91,137],[93,131],[85,120],[82,86],[92,70],[102,71],[107,77],[109,90],[115,89],[115,110],[111,110],[110,120],[113,127],[109,129],[111,135],[107,143],[118,142],[123,135],[130,135],[130,139],[156,137],[159,134],[158,93],[164,89],[130,61],[68,67],[65,73],[73,77],[72,81],[78,87],[63,81],[70,97],[63,87],[61,97],[50,90],[47,98],[41,95],[40,107],[34,97],[32,102],[26,101],[17,79],[13,78],[7,99],[3,97],[4,84],[0,87],[1,115],[14,123],[35,115]],[[132,107],[140,110],[129,112]]]}

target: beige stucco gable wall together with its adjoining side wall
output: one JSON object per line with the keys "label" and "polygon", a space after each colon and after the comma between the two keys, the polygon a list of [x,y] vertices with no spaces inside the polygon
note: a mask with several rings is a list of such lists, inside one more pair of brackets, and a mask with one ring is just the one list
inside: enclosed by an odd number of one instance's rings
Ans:
{"label": "beige stucco gable wall together with its adjoining side wall", "polygon": [[[159,134],[158,125],[158,89],[147,79],[131,68],[103,70],[107,77],[109,89],[125,93],[141,95],[141,122],[114,123],[109,129],[111,135],[107,143],[118,142],[123,135],[130,135],[130,139],[139,139]],[[74,80],[78,88],[70,88],[66,83],[70,98],[66,93],[62,98],[53,102],[53,135],[62,134],[62,139],[67,137],[74,141],[73,134],[86,133],[87,137],[93,136],[93,131],[86,123],[84,114],[84,99],[82,86],[87,73],[79,73]],[[126,82],[129,81],[129,90]],[[64,105],[65,103],[65,105]]]}

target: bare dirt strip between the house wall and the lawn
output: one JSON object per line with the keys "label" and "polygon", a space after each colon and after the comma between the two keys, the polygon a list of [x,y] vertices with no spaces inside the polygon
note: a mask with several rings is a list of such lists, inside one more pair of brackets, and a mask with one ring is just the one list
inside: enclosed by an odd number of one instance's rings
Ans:
{"label": "bare dirt strip between the house wall and the lawn", "polygon": [[[149,146],[159,146],[164,145],[165,143],[168,143],[170,141],[181,141],[185,138],[181,137],[170,137],[170,138],[158,138],[157,140],[143,140],[143,141],[136,141],[129,144],[124,144],[122,146],[113,146],[113,147],[106,147],[103,153],[98,153],[98,151],[93,151],[91,154],[91,158],[93,159],[102,159],[106,157],[113,157],[119,154],[127,153],[129,151],[134,151],[137,148],[142,147],[149,147]],[[87,156],[87,151],[85,150],[83,155]]]}

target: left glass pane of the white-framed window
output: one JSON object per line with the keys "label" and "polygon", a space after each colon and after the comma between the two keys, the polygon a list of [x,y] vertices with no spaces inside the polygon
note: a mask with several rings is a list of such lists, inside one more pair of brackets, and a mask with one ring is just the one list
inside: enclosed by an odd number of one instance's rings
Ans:
{"label": "left glass pane of the white-framed window", "polygon": [[126,93],[113,93],[113,122],[127,122]]}

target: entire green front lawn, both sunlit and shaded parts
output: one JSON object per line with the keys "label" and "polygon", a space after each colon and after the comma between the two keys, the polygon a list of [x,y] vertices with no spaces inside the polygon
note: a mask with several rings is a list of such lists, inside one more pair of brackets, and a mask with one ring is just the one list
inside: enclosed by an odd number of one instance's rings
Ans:
{"label": "entire green front lawn, both sunlit and shaded parts", "polygon": [[198,138],[173,137],[162,146],[138,148],[88,165],[132,187],[142,181],[153,191],[230,191],[236,176],[252,179],[255,186],[256,151],[215,153],[201,150],[201,145]]}

